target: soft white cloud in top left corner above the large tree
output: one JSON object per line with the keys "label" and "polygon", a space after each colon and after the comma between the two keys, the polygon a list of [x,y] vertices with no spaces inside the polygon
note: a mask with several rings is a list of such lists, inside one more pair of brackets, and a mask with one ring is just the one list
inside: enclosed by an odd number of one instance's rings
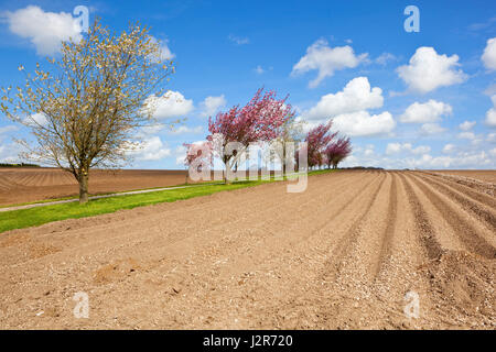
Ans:
{"label": "soft white cloud in top left corner above the large tree", "polygon": [[36,6],[29,6],[14,12],[4,13],[9,30],[28,38],[36,47],[39,55],[54,55],[61,48],[61,42],[72,37],[82,38],[78,19],[67,12],[44,12]]}

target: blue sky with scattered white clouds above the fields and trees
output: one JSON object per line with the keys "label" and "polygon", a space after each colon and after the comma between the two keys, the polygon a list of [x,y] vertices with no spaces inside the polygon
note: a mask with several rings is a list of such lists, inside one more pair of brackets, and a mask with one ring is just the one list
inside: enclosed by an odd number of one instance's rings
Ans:
{"label": "blue sky with scattered white clouds above the fields and trees", "polygon": [[[403,28],[410,4],[419,32]],[[181,145],[208,134],[207,114],[265,86],[289,94],[309,127],[334,118],[354,145],[345,166],[496,168],[494,1],[0,1],[0,86],[57,55],[67,34],[50,21],[76,6],[115,30],[150,25],[176,62],[169,89],[181,99],[160,118],[187,120],[148,131],[132,167],[182,168]],[[0,117],[0,161],[25,133]]]}

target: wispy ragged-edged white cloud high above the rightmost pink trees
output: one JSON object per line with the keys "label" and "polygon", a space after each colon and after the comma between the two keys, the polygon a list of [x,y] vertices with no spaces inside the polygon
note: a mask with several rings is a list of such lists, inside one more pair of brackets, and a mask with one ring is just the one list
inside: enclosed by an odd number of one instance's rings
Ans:
{"label": "wispy ragged-edged white cloud high above the rightmost pink trees", "polygon": [[306,48],[306,54],[293,66],[291,75],[319,70],[317,77],[309,84],[310,88],[315,88],[325,77],[333,76],[335,70],[358,66],[367,55],[355,55],[349,45],[330,47],[325,40],[319,40]]}

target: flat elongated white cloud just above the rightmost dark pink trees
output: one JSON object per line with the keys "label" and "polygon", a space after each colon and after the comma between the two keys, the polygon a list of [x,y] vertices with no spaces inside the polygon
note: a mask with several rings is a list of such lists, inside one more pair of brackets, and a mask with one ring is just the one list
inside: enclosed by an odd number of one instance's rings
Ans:
{"label": "flat elongated white cloud just above the rightmost dark pink trees", "polygon": [[351,136],[389,134],[395,127],[396,122],[388,111],[373,116],[368,111],[356,111],[333,119],[333,128]]}

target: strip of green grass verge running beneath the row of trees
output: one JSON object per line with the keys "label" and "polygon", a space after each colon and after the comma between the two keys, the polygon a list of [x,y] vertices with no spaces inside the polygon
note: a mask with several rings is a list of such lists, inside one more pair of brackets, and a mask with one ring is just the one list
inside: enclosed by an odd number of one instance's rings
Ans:
{"label": "strip of green grass verge running beneath the row of trees", "polygon": [[[310,172],[309,175],[319,175],[330,172],[333,170],[314,170]],[[132,209],[136,207],[150,206],[160,202],[171,202],[193,197],[207,196],[218,191],[254,187],[260,184],[272,182],[277,182],[277,179],[236,182],[228,185],[211,184],[190,188],[169,189],[147,194],[95,199],[90,200],[86,205],[79,205],[78,202],[68,202],[46,207],[6,211],[0,212],[0,232],[13,229],[35,227],[43,223],[65,219],[87,218],[97,215],[115,212],[120,209]]]}

